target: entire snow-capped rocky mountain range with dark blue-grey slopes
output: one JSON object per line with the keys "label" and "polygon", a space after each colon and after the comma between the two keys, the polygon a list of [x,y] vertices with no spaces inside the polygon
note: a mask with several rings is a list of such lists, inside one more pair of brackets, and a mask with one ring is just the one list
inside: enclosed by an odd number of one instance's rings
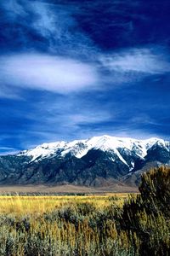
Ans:
{"label": "entire snow-capped rocky mountain range with dark blue-grey slopes", "polygon": [[151,166],[170,165],[170,142],[110,136],[43,143],[20,154],[0,157],[1,184],[102,186],[136,184]]}

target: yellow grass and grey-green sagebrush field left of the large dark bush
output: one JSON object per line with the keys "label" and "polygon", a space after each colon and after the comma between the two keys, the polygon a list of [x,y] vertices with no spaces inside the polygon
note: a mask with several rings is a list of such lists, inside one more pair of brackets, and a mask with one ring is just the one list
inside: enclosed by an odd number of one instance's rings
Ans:
{"label": "yellow grass and grey-green sagebrush field left of the large dark bush", "polygon": [[102,216],[113,204],[122,208],[127,196],[0,195],[0,255],[96,256],[120,251],[114,222]]}

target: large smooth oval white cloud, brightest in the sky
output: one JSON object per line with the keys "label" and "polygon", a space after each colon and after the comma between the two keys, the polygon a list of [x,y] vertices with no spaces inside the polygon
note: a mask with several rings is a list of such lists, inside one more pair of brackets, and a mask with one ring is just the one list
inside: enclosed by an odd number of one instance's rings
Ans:
{"label": "large smooth oval white cloud, brightest in the sky", "polygon": [[10,55],[0,58],[3,84],[59,93],[95,87],[98,74],[87,63],[52,55]]}

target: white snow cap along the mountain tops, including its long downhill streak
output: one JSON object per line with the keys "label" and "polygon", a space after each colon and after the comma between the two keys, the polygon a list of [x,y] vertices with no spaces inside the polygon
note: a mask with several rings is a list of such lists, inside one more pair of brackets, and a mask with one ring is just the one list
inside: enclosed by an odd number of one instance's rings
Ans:
{"label": "white snow cap along the mountain tops, including its long downhill streak", "polygon": [[127,164],[127,162],[122,158],[122,155],[119,153],[119,148],[133,151],[135,154],[139,155],[139,157],[144,158],[144,156],[147,154],[147,150],[156,143],[166,146],[167,142],[156,137],[145,140],[137,140],[128,137],[111,137],[104,135],[99,137],[91,137],[87,140],[75,140],[72,142],[61,141],[56,143],[43,143],[36,148],[25,150],[20,154],[31,156],[31,161],[54,156],[58,153],[61,157],[65,156],[65,154],[71,153],[77,158],[82,158],[82,156],[87,154],[90,149],[96,148],[103,151],[113,151],[117,157],[124,162],[124,164]]}

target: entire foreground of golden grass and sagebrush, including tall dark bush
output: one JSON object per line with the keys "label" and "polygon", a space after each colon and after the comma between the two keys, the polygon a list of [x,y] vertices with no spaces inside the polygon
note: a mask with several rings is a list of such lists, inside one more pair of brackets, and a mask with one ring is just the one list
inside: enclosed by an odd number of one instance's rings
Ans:
{"label": "entire foreground of golden grass and sagebrush, including tall dark bush", "polygon": [[139,195],[2,195],[0,255],[170,255],[170,168]]}

